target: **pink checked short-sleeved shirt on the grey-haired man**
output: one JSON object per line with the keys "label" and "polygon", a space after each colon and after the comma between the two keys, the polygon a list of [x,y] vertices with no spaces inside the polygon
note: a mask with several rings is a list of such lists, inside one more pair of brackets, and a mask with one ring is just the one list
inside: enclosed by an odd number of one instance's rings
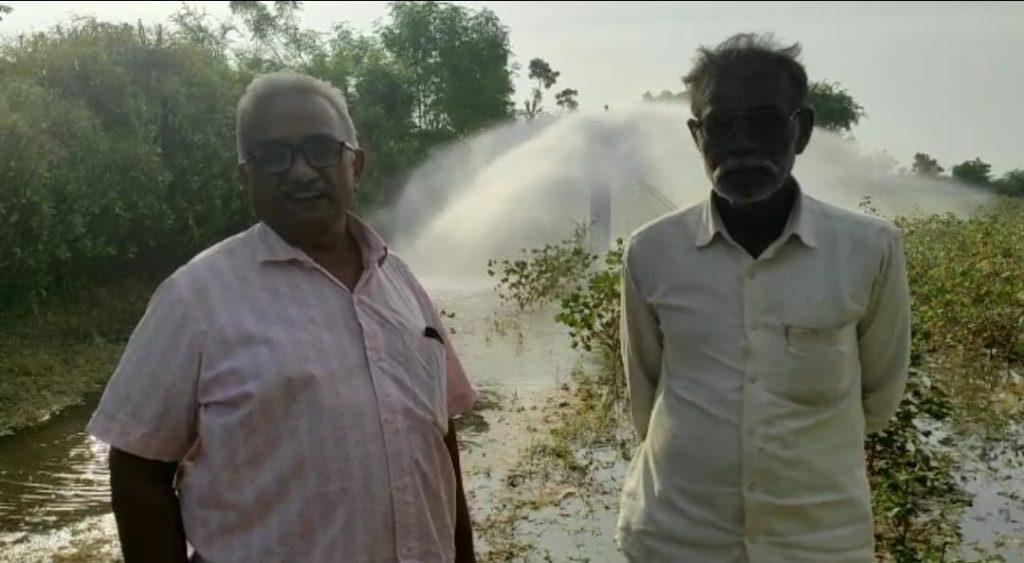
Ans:
{"label": "pink checked short-sleeved shirt on the grey-haired man", "polygon": [[455,558],[443,437],[475,392],[409,267],[349,224],[365,261],[353,292],[263,223],[171,275],[89,423],[181,462],[203,561]]}

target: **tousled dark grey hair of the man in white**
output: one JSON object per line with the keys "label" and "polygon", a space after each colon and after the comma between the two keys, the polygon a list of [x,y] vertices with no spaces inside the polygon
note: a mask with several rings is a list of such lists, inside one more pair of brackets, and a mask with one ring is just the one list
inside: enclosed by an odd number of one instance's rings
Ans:
{"label": "tousled dark grey hair of the man in white", "polygon": [[772,34],[736,34],[715,48],[701,46],[693,61],[693,69],[683,77],[690,93],[690,110],[699,116],[711,94],[717,74],[728,68],[774,68],[785,75],[793,85],[794,109],[807,101],[807,71],[800,62],[800,43],[783,46]]}

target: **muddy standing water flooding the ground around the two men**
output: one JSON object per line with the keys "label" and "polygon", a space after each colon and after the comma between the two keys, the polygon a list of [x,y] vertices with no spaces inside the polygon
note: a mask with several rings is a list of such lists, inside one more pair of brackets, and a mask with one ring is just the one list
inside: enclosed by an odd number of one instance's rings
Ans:
{"label": "muddy standing water flooding the ground around the two men", "polygon": [[[613,542],[622,448],[559,452],[552,443],[553,429],[572,423],[572,375],[587,365],[553,311],[511,320],[482,285],[436,295],[454,314],[456,345],[481,391],[460,434],[481,560],[623,562]],[[0,438],[0,561],[118,560],[105,447],[83,432],[95,401]],[[575,468],[568,477],[552,469],[559,456]],[[1019,537],[1024,511],[1013,492],[1021,482],[1020,473],[971,474],[977,496],[964,522],[969,540]],[[1020,544],[1002,549],[1010,562],[1024,561],[1021,553]]]}

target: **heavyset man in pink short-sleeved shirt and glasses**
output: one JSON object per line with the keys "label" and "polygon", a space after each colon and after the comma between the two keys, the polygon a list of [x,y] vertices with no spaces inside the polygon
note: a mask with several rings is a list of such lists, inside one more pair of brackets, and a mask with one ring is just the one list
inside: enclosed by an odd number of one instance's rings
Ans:
{"label": "heavyset man in pink short-sleeved shirt and glasses", "polygon": [[126,561],[472,562],[452,417],[475,392],[349,212],[343,95],[257,78],[237,137],[260,222],[161,285],[89,423]]}

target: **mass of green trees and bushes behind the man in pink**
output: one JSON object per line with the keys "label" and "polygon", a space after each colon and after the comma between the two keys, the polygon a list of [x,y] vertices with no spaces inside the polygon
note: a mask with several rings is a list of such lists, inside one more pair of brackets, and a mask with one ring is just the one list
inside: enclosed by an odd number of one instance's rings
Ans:
{"label": "mass of green trees and bushes behind the man in pink", "polygon": [[[494,12],[395,2],[372,35],[301,29],[298,2],[184,6],[167,26],[76,18],[0,45],[0,314],[182,260],[252,221],[233,107],[294,69],[349,97],[372,155],[364,207],[398,196],[430,147],[509,119]],[[567,103],[567,102],[566,102]]]}

